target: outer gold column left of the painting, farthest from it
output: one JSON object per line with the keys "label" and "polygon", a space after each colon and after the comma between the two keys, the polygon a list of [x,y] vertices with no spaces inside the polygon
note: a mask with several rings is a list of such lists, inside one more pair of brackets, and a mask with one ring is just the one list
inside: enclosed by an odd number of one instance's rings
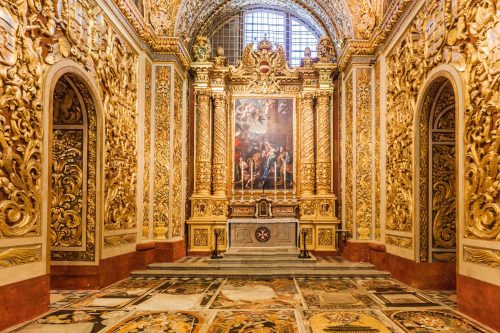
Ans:
{"label": "outer gold column left of the painting, farthest from it", "polygon": [[210,195],[212,162],[210,143],[210,94],[207,90],[196,90],[196,193]]}

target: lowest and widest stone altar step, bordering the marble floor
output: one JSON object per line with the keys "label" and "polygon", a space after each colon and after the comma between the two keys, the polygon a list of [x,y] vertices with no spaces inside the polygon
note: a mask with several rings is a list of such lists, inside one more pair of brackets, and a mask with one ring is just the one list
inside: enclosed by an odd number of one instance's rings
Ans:
{"label": "lowest and widest stone altar step, bordering the marble floor", "polygon": [[389,272],[365,270],[310,270],[310,269],[211,269],[206,271],[177,269],[148,269],[132,272],[134,277],[388,277]]}

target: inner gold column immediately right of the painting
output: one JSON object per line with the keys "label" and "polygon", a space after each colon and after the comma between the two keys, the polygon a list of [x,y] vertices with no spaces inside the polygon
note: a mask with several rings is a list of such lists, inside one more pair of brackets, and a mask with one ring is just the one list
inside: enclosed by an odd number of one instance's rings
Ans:
{"label": "inner gold column immediately right of the painting", "polygon": [[303,93],[301,104],[301,195],[314,194],[314,95]]}

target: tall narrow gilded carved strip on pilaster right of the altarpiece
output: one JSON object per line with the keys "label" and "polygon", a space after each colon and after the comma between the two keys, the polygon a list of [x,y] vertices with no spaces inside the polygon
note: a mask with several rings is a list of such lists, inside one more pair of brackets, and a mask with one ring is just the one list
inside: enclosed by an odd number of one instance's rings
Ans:
{"label": "tall narrow gilded carved strip on pilaster right of the altarpiece", "polygon": [[372,234],[371,70],[356,71],[356,225],[358,239]]}

